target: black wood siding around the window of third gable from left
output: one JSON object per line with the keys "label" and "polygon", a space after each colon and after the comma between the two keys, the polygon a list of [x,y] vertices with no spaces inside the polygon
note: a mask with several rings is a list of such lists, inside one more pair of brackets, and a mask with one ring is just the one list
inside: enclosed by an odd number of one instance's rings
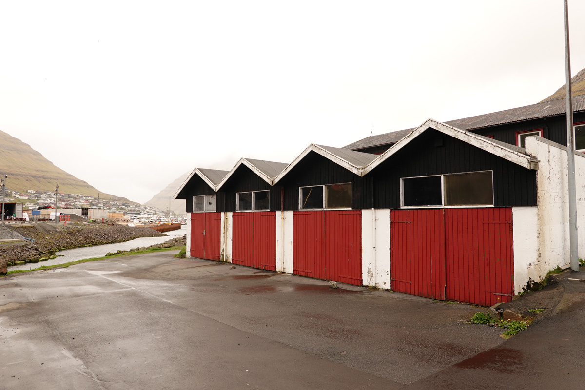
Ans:
{"label": "black wood siding around the window of third gable from left", "polygon": [[371,208],[371,181],[311,151],[278,182],[284,187],[284,210],[298,210],[298,188],[308,185],[352,184],[352,209]]}

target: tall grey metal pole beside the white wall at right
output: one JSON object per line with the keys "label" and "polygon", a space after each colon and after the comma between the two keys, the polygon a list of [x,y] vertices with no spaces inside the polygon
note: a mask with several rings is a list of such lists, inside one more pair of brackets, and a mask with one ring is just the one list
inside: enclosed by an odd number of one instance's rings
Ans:
{"label": "tall grey metal pole beside the white wall at right", "polygon": [[573,129],[573,96],[571,87],[571,55],[569,50],[569,5],[565,5],[565,74],[567,106],[567,181],[569,187],[569,255],[571,269],[579,271],[579,235],[577,234],[577,190],[575,184],[575,135]]}

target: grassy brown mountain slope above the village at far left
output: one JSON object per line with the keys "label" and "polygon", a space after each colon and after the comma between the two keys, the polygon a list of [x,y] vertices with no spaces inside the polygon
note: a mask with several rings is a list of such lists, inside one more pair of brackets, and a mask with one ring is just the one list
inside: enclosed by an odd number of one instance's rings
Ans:
{"label": "grassy brown mountain slope above the village at far left", "polygon": [[[6,188],[26,192],[27,189],[97,196],[102,199],[130,202],[126,198],[98,191],[87,182],[56,167],[29,144],[0,130],[0,174],[8,175]],[[132,202],[137,203],[137,202]]]}

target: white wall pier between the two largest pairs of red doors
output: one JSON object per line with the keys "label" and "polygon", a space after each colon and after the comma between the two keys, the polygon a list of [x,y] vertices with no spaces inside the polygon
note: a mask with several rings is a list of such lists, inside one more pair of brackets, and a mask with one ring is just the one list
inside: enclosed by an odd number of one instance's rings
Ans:
{"label": "white wall pier between the two largest pairs of red doors", "polygon": [[390,288],[390,209],[362,210],[362,283]]}

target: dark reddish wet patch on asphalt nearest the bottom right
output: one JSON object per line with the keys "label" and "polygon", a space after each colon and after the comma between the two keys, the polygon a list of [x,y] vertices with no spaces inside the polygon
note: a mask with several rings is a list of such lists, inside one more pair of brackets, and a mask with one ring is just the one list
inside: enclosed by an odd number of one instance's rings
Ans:
{"label": "dark reddish wet patch on asphalt nearest the bottom right", "polygon": [[521,370],[522,352],[510,348],[493,348],[455,364],[459,368],[494,370],[512,374]]}

